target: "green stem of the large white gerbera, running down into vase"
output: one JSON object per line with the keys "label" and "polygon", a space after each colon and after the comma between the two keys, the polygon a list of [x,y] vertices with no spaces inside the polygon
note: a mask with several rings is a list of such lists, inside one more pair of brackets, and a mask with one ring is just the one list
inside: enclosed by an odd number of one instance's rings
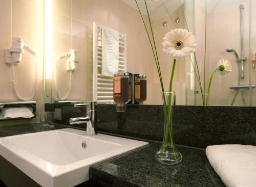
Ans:
{"label": "green stem of the large white gerbera, running down into vase", "polygon": [[[170,125],[172,121],[170,121],[170,116],[172,115],[172,94],[173,91],[173,79],[174,79],[174,71],[176,66],[176,59],[174,59],[173,69],[172,69],[172,75],[170,76],[170,85],[169,85],[169,103],[168,103],[168,113],[167,113],[167,123],[166,123],[166,129],[165,129],[165,139],[164,139],[164,145],[168,142],[168,136],[170,136],[170,144],[172,144],[172,149],[174,151],[174,141],[172,137],[172,132],[170,130]],[[164,106],[166,107],[166,106]]]}

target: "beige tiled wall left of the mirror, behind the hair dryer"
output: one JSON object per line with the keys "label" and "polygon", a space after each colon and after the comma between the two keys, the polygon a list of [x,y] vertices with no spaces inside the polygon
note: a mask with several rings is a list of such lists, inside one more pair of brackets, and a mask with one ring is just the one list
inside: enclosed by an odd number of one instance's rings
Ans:
{"label": "beige tiled wall left of the mirror, behind the hair dryer", "polygon": [[[10,48],[12,37],[21,37],[36,51],[38,57],[37,115],[42,111],[44,98],[44,1],[1,0],[0,1],[0,102],[18,101],[11,87],[11,66],[4,62],[4,49]],[[22,97],[30,97],[34,89],[35,58],[27,52],[22,62],[14,67],[17,90]],[[22,121],[27,123],[31,120]],[[15,124],[18,121],[0,122]]]}

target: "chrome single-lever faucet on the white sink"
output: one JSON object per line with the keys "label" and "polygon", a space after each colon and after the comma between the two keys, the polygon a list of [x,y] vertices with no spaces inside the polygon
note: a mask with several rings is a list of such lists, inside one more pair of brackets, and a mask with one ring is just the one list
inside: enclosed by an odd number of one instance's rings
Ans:
{"label": "chrome single-lever faucet on the white sink", "polygon": [[[71,125],[74,124],[79,124],[79,123],[88,123],[91,122],[92,124],[92,135],[97,134],[97,102],[87,102],[83,104],[74,104],[74,108],[79,108],[79,107],[87,107],[87,116],[85,117],[78,117],[78,118],[70,118],[69,123]],[[88,128],[87,128],[88,129]],[[87,131],[88,135],[89,132]]]}

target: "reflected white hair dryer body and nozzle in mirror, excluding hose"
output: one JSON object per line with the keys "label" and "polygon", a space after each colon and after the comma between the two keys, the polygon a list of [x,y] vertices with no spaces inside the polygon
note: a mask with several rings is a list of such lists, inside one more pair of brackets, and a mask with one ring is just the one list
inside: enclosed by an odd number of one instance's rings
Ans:
{"label": "reflected white hair dryer body and nozzle in mirror, excluding hose", "polygon": [[67,71],[74,71],[76,69],[76,63],[78,63],[77,58],[77,50],[76,49],[70,49],[69,52],[65,54],[60,54],[57,56],[56,61],[63,59],[65,57],[68,57],[67,59]]}

